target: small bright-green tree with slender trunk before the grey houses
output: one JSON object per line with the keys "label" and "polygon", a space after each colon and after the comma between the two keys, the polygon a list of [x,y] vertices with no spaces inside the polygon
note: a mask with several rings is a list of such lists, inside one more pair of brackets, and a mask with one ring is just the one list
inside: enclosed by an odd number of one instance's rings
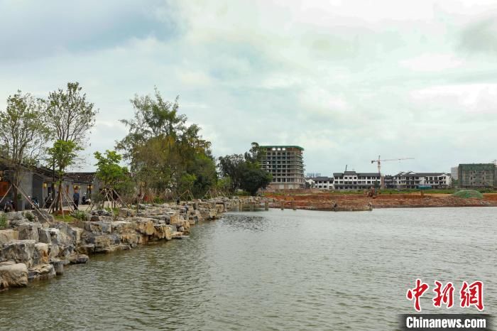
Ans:
{"label": "small bright-green tree with slender trunk before the grey houses", "polygon": [[77,146],[72,140],[63,141],[59,139],[53,143],[53,147],[48,148],[48,163],[51,167],[57,169],[58,174],[58,205],[59,210],[62,210],[62,180],[65,175],[65,170],[74,165],[77,160],[77,152],[82,148]]}

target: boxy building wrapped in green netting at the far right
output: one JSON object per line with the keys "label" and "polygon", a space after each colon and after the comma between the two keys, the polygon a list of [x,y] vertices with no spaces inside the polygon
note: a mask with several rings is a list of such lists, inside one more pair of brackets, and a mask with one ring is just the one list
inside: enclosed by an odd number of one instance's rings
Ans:
{"label": "boxy building wrapped in green netting at the far right", "polygon": [[497,187],[497,167],[495,163],[459,164],[460,188]]}

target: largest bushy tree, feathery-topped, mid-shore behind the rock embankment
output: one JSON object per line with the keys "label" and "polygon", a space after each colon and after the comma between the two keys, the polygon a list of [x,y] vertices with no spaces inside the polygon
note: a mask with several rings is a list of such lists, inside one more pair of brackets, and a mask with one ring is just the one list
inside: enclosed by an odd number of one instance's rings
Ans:
{"label": "largest bushy tree, feathery-topped, mid-shore behind the rock embankment", "polygon": [[154,97],[136,95],[131,104],[133,119],[121,120],[129,133],[116,148],[138,181],[155,192],[176,195],[190,190],[200,196],[208,190],[216,178],[210,143],[200,136],[200,126],[186,124],[187,117],[178,112],[178,97],[165,101],[155,89]]}

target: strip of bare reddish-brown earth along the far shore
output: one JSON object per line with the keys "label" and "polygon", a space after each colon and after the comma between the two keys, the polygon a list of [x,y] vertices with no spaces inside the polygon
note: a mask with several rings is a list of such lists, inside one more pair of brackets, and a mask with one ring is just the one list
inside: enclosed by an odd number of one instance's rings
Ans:
{"label": "strip of bare reddish-brown earth along the far shore", "polygon": [[334,206],[356,208],[361,210],[371,204],[373,208],[395,207],[480,207],[496,206],[497,194],[485,194],[483,200],[463,199],[447,194],[420,195],[410,194],[380,194],[368,197],[361,194],[300,194],[300,195],[275,195],[268,194],[276,204],[284,201],[285,206],[299,209],[332,210]]}

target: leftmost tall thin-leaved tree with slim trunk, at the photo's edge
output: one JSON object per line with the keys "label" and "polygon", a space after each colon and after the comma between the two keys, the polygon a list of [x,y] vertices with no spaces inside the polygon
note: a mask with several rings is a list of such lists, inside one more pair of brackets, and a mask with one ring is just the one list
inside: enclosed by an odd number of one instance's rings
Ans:
{"label": "leftmost tall thin-leaved tree with slim trunk, at the photo's edge", "polygon": [[[7,107],[0,112],[0,153],[13,168],[13,183],[21,184],[23,167],[35,165],[43,154],[48,129],[43,121],[43,101],[20,90],[9,96]],[[13,188],[17,197],[17,188]],[[16,200],[16,209],[17,199]]]}

